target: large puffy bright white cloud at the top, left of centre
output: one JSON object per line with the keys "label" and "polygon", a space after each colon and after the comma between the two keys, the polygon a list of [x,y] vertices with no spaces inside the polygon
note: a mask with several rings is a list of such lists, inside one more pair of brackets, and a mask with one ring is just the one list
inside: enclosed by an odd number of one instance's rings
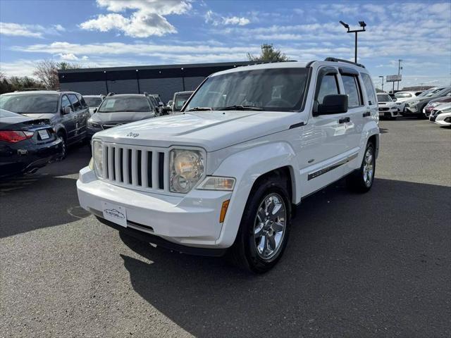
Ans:
{"label": "large puffy bright white cloud at the top, left of centre", "polygon": [[[187,0],[97,0],[97,4],[106,7],[106,15],[97,15],[97,18],[87,20],[80,24],[84,30],[119,30],[130,37],[163,36],[177,32],[168,22],[165,15],[183,14],[192,6]],[[132,10],[130,16],[118,12]]]}

